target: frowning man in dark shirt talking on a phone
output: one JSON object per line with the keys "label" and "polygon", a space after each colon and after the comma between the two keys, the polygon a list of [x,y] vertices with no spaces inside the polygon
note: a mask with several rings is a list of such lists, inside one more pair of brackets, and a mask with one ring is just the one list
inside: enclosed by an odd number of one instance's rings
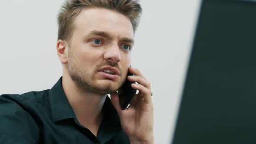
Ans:
{"label": "frowning man in dark shirt talking on a phone", "polygon": [[[136,0],[69,0],[58,15],[63,75],[50,90],[0,96],[0,144],[152,144],[150,83],[131,65]],[[121,110],[127,72],[139,91]],[[107,94],[111,95],[111,100]]]}

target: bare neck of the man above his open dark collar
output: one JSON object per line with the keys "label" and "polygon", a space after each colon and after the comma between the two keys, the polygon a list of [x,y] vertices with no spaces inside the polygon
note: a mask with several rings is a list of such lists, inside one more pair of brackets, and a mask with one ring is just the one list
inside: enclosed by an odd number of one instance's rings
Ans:
{"label": "bare neck of the man above his open dark collar", "polygon": [[79,123],[88,129],[97,129],[103,119],[102,107],[106,95],[80,91],[64,69],[62,87]]}

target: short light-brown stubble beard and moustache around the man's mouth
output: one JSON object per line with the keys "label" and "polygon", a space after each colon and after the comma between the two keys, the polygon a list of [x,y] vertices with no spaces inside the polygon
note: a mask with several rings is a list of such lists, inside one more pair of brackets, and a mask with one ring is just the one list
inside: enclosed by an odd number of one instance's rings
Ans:
{"label": "short light-brown stubble beard and moustache around the man's mouth", "polygon": [[[101,63],[96,65],[95,69],[92,69],[90,72],[89,68],[83,68],[79,65],[79,60],[75,59],[72,55],[72,50],[69,48],[69,62],[67,63],[67,68],[70,78],[75,82],[76,87],[80,92],[93,93],[98,95],[106,95],[113,92],[116,92],[118,88],[125,83],[126,75],[123,75],[124,72],[118,67],[118,63],[108,62]],[[112,66],[115,67],[118,72],[121,80],[118,82],[113,82],[111,79],[105,78],[98,82],[96,79],[96,73],[103,66]]]}

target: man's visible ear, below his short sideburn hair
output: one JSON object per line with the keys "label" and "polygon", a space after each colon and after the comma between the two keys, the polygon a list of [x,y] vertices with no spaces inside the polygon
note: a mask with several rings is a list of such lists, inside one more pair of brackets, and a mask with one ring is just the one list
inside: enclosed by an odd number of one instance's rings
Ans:
{"label": "man's visible ear, below his short sideburn hair", "polygon": [[62,62],[62,64],[68,63],[68,46],[66,41],[59,39],[56,48],[60,62]]}

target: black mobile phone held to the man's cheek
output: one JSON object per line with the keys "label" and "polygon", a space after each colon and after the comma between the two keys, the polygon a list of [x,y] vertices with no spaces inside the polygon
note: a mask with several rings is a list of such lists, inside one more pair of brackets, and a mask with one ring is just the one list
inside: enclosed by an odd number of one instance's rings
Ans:
{"label": "black mobile phone held to the man's cheek", "polygon": [[127,77],[129,75],[134,75],[132,74],[131,72],[127,72],[127,76],[126,76],[126,80],[125,80],[125,83],[121,86],[121,88],[118,89],[117,93],[118,93],[118,96],[119,96],[119,103],[121,105],[121,109],[122,110],[125,110],[131,99],[133,98],[133,96],[136,94],[137,90],[132,88],[131,87],[131,84],[132,83],[135,83],[135,82],[130,82]]}

